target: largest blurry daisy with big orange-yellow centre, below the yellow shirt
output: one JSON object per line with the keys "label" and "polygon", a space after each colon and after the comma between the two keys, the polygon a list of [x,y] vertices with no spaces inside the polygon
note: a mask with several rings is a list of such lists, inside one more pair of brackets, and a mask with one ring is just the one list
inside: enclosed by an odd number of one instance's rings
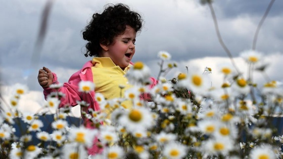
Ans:
{"label": "largest blurry daisy with big orange-yellow centre, below the yellow shirt", "polygon": [[151,112],[146,108],[134,108],[125,112],[120,117],[119,122],[127,130],[135,130],[137,128],[147,129],[153,126]]}

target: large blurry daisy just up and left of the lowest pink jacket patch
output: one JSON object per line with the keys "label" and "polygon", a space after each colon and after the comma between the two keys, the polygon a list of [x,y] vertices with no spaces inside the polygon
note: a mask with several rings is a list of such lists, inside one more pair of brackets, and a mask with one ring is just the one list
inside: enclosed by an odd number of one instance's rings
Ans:
{"label": "large blurry daisy just up and left of the lowest pink jacket patch", "polygon": [[92,146],[92,141],[97,135],[96,129],[87,129],[84,127],[72,127],[68,138],[72,142],[77,142],[80,144],[84,144],[87,147]]}

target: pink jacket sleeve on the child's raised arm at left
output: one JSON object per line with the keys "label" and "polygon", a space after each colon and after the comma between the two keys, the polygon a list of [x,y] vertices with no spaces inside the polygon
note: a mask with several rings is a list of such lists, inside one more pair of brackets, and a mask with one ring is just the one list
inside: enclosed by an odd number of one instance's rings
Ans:
{"label": "pink jacket sleeve on the child's raised arm at left", "polygon": [[[78,87],[78,83],[81,81],[80,76],[79,76],[80,71],[74,73],[68,82],[65,82],[63,84],[63,86],[61,88],[59,88],[59,92],[62,92],[65,94],[65,96],[63,96],[60,100],[61,103],[59,105],[59,108],[64,107],[66,104],[71,105],[72,107],[74,107],[75,105],[77,105],[77,101],[81,101],[82,100],[82,93],[79,92],[79,87]],[[53,83],[54,84],[58,84],[58,80],[57,80],[57,75],[55,73],[53,73],[54,79],[53,79]],[[47,96],[51,93],[56,91],[55,89],[52,88],[43,88],[43,94],[45,99],[47,98]]]}

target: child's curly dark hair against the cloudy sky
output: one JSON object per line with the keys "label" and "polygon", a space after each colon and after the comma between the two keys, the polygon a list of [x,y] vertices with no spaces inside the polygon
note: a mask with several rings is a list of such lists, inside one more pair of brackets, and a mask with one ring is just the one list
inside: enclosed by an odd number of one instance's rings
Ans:
{"label": "child's curly dark hair against the cloudy sky", "polygon": [[108,4],[102,14],[95,13],[91,21],[84,28],[82,36],[88,42],[85,44],[87,56],[98,57],[101,44],[110,45],[114,38],[123,34],[126,26],[132,27],[136,32],[141,30],[143,19],[141,16],[124,4]]}

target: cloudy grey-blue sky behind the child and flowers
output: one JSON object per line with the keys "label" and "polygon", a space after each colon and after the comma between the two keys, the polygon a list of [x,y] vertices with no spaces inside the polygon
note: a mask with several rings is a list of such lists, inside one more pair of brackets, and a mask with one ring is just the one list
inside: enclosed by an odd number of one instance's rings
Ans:
{"label": "cloudy grey-blue sky behind the child and flowers", "polygon": [[[84,57],[81,31],[95,12],[103,11],[108,3],[124,3],[140,13],[145,23],[136,37],[135,61],[143,61],[158,75],[157,52],[168,51],[171,62],[178,68],[167,75],[170,79],[185,67],[203,71],[212,68],[212,83],[217,85],[217,66],[230,63],[218,42],[212,16],[207,5],[199,0],[60,0],[54,1],[42,49],[31,61],[42,10],[47,0],[0,0],[0,86],[8,97],[11,85],[27,84],[30,93],[21,104],[23,110],[42,104],[42,89],[37,83],[38,69],[45,66],[56,72],[60,82],[66,82],[90,57]],[[213,8],[219,29],[235,62],[246,72],[246,64],[239,57],[241,51],[251,49],[257,25],[270,1],[266,0],[215,0]],[[256,49],[270,63],[268,76],[281,81],[283,61],[283,1],[275,1],[258,35]],[[36,64],[36,66],[32,65]],[[263,81],[260,74],[255,74]]]}

